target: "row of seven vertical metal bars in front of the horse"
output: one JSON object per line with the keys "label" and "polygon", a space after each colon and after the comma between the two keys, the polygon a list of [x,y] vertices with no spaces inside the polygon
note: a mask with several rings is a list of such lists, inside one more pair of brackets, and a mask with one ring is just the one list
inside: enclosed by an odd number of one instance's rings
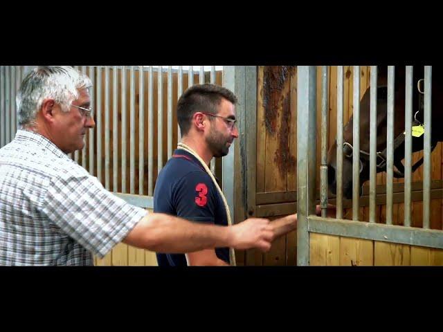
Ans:
{"label": "row of seven vertical metal bars in front of the horse", "polygon": [[[354,66],[354,73],[360,66]],[[320,204],[322,216],[327,211],[327,66],[322,67],[322,120],[321,120],[321,165]],[[388,66],[388,118],[386,160],[386,224],[392,225],[393,161],[394,161],[394,82],[395,66]],[[429,228],[431,203],[431,77],[432,66],[424,66],[424,163],[423,163],[423,228]],[[359,219],[359,118],[360,118],[360,75],[354,75],[354,121],[352,153],[352,220]],[[370,67],[370,86],[377,86],[377,66]],[[412,132],[413,118],[413,66],[406,66],[405,131]],[[377,176],[377,89],[370,89],[370,223],[375,223],[376,176]],[[343,147],[343,66],[337,68],[337,147]],[[336,218],[343,218],[343,148],[337,148],[336,155]],[[412,138],[405,136],[404,176],[404,225],[410,227],[411,205]]]}

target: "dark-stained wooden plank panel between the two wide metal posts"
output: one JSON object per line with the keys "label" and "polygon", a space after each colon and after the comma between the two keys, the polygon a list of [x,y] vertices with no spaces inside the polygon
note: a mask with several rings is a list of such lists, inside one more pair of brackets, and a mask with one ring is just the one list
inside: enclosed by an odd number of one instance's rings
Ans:
{"label": "dark-stained wooden plank panel between the two wide metal posts", "polygon": [[[296,190],[295,66],[259,66],[257,71],[257,193]],[[291,203],[295,209],[295,203]],[[280,211],[280,216],[285,214]],[[270,219],[279,214],[270,215]],[[245,265],[296,265],[296,232],[273,242],[269,252],[248,250]]]}

